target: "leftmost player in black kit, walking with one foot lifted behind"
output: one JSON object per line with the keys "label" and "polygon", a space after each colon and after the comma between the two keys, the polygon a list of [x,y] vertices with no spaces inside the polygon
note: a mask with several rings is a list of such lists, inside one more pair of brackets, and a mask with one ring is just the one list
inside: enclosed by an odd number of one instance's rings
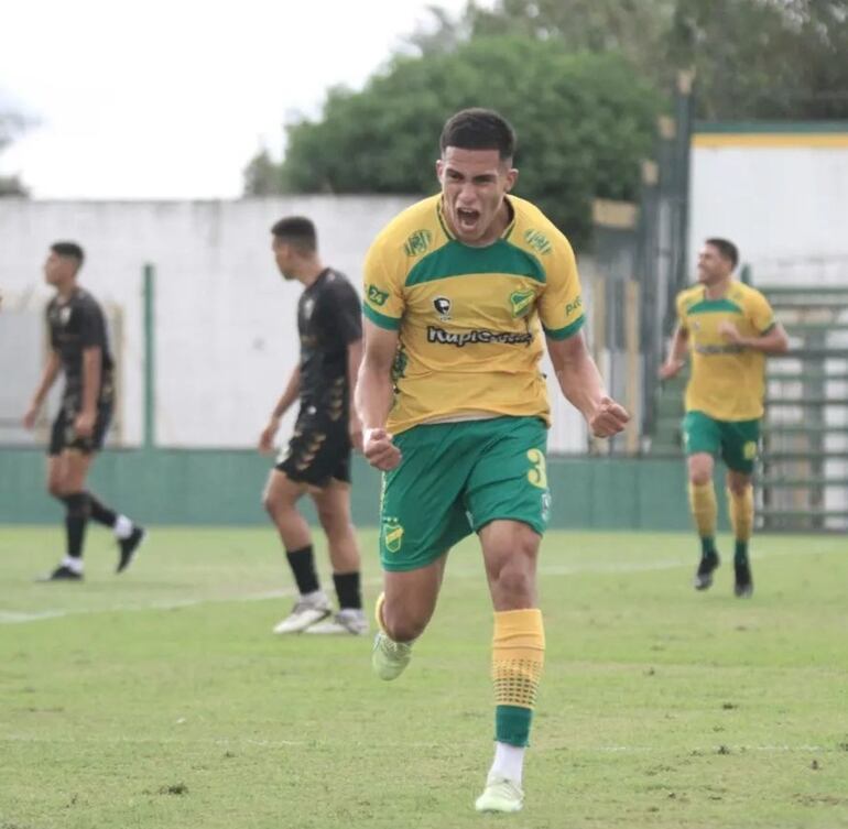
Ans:
{"label": "leftmost player in black kit, walking with one foot lifted behind", "polygon": [[47,305],[51,351],[23,417],[26,428],[35,425],[47,392],[64,371],[65,389],[50,440],[47,490],[67,510],[67,548],[47,581],[83,579],[83,542],[89,519],[112,528],[120,549],[118,572],[129,567],[144,537],[142,527],[86,490],[86,476],[109,427],[115,390],[104,313],[94,296],[77,285],[84,259],[83,249],[75,242],[51,246],[44,263],[45,281],[56,288]]}

